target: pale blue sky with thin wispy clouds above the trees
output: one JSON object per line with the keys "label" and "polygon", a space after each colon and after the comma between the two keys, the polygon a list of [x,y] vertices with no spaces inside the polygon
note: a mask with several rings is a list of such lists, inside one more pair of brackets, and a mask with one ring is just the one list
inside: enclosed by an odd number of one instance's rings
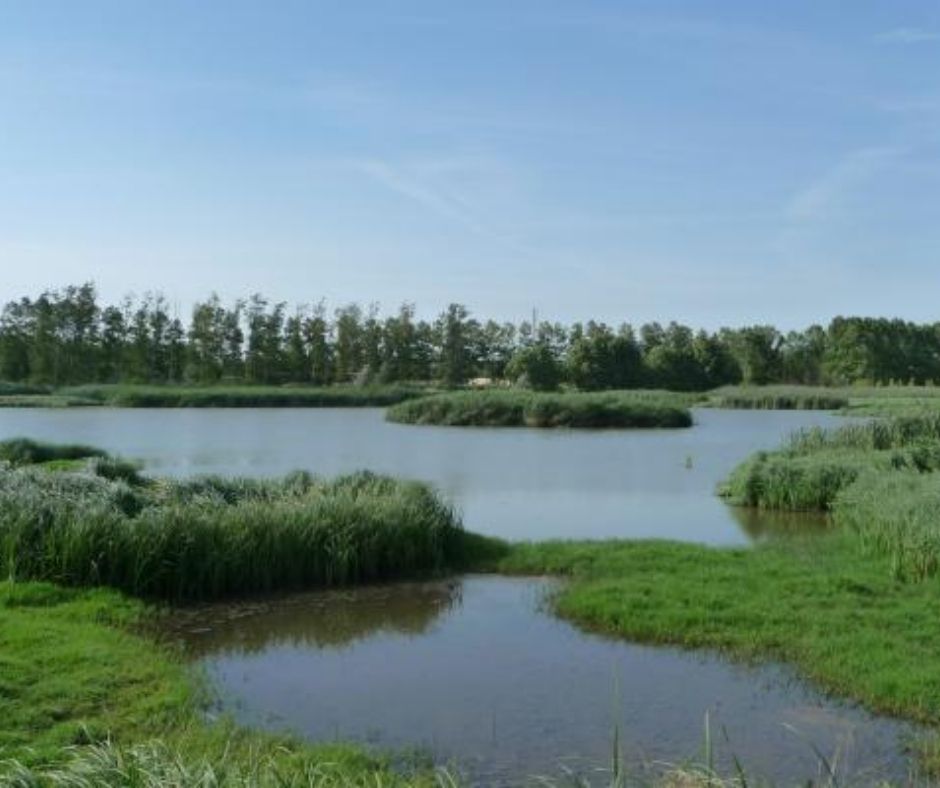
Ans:
{"label": "pale blue sky with thin wispy clouds above the trees", "polygon": [[0,300],[940,320],[936,0],[0,0]]}

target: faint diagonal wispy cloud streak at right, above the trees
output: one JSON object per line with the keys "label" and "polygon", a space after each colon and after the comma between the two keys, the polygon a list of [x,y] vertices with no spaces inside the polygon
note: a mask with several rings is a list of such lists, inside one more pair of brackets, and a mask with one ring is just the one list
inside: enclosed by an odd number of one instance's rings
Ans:
{"label": "faint diagonal wispy cloud streak at right, above the trees", "polygon": [[787,217],[796,221],[814,221],[831,216],[903,153],[901,148],[888,146],[860,148],[847,153],[793,195],[786,208]]}

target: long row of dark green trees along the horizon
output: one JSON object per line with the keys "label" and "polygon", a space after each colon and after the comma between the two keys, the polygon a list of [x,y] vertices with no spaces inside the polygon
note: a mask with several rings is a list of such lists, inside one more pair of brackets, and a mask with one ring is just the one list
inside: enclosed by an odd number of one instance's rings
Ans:
{"label": "long row of dark green trees along the horizon", "polygon": [[254,295],[197,303],[184,323],[165,297],[102,305],[92,284],[21,298],[0,314],[0,380],[78,383],[393,383],[457,386],[476,377],[535,388],[727,383],[940,381],[940,323],[839,317],[783,334],[772,326],[694,331],[679,323],[480,321],[451,304],[436,320],[321,302],[289,310]]}

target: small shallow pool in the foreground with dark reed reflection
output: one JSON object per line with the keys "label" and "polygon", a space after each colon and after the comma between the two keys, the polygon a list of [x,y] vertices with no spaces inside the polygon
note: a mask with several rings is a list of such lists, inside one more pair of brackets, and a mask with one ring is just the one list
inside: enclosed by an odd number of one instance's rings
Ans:
{"label": "small shallow pool in the foreground with dark reed reflection", "polygon": [[320,592],[185,611],[173,634],[243,722],[419,746],[478,784],[563,768],[602,784],[616,725],[631,763],[701,761],[706,712],[729,770],[737,755],[752,776],[816,778],[815,746],[840,782],[906,777],[906,726],[780,669],[586,634],[544,612],[547,588],[471,576]]}

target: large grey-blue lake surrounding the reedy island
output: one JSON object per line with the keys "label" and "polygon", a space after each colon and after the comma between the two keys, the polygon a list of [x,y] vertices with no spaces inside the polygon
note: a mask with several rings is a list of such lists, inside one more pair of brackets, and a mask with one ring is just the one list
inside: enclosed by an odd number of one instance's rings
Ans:
{"label": "large grey-blue lake surrounding the reedy island", "polygon": [[367,468],[423,479],[468,528],[511,539],[661,537],[741,544],[715,485],[791,431],[845,420],[799,411],[697,410],[688,430],[455,429],[388,424],[381,410],[0,410],[0,438],[81,441],[157,474],[332,475]]}

